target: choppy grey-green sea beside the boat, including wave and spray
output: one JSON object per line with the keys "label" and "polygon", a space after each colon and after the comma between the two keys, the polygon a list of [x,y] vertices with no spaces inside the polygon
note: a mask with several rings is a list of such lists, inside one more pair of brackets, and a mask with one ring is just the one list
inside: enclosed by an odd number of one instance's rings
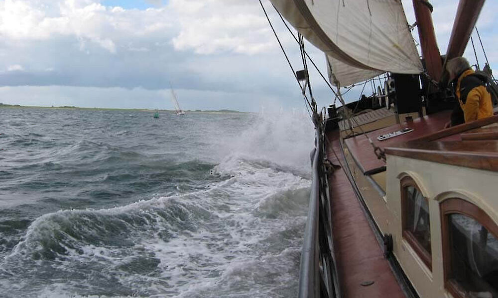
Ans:
{"label": "choppy grey-green sea beside the boat, including wave and spray", "polygon": [[1,297],[292,297],[308,119],[0,108]]}

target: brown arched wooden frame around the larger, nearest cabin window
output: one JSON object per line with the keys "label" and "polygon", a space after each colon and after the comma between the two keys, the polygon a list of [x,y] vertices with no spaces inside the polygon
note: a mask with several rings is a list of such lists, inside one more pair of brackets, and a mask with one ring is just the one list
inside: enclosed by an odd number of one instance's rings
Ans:
{"label": "brown arched wooden frame around the larger, nearest cabin window", "polygon": [[465,298],[465,292],[461,290],[461,287],[456,282],[449,278],[451,272],[449,218],[452,214],[461,214],[474,219],[479,224],[483,225],[497,239],[498,225],[486,212],[484,212],[484,210],[464,199],[449,198],[440,204],[444,288],[454,298]]}

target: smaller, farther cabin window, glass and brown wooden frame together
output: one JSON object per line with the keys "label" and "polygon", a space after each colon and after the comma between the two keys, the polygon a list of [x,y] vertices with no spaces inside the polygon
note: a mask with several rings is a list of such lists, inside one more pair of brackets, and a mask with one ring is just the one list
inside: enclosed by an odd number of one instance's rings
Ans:
{"label": "smaller, farther cabin window, glass and brown wooden frame together", "polygon": [[401,209],[403,238],[432,270],[429,202],[410,177],[401,179]]}

